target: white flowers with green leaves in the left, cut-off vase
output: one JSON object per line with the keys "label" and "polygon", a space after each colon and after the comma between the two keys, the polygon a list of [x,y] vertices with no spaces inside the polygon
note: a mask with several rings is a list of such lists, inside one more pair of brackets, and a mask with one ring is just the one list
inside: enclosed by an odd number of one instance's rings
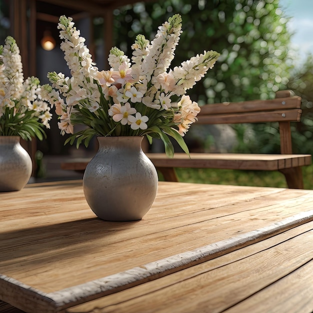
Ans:
{"label": "white flowers with green leaves in the left, cut-off vase", "polygon": [[11,36],[0,45],[0,136],[42,140],[52,114],[40,96],[39,79],[23,78],[19,48]]}

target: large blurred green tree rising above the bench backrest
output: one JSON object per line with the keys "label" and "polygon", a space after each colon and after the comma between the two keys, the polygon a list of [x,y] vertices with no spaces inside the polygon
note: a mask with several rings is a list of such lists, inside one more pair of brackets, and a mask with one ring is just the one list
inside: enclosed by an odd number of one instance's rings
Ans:
{"label": "large blurred green tree rising above the bench backrest", "polygon": [[136,34],[153,39],[174,13],[182,16],[183,32],[171,66],[203,50],[221,53],[188,91],[199,105],[273,97],[286,87],[290,33],[279,0],[158,0],[124,6],[114,11],[116,45],[130,57]]}

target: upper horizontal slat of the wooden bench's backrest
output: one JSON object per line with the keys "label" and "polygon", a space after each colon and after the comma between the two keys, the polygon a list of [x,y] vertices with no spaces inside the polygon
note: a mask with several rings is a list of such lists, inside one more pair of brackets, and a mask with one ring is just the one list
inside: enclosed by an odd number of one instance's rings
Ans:
{"label": "upper horizontal slat of the wooden bench's backrest", "polygon": [[257,111],[272,111],[301,107],[301,97],[292,96],[268,100],[251,100],[241,102],[223,102],[202,105],[198,116],[227,113],[243,113]]}

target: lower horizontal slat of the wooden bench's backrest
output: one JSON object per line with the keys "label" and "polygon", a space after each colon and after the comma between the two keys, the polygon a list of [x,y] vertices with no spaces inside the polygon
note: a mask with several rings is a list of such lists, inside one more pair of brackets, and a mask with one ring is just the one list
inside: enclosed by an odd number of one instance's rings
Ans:
{"label": "lower horizontal slat of the wooden bench's backrest", "polygon": [[276,110],[251,113],[197,115],[197,124],[236,124],[277,121],[300,121],[301,110]]}

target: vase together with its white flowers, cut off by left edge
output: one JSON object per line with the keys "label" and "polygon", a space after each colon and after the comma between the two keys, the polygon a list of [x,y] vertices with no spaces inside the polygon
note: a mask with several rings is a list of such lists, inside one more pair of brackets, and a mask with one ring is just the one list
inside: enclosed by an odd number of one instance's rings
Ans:
{"label": "vase together with its white flowers, cut off by left edge", "polygon": [[20,138],[42,140],[51,116],[38,78],[24,80],[18,46],[7,36],[0,45],[0,191],[20,190],[27,183],[32,161]]}

